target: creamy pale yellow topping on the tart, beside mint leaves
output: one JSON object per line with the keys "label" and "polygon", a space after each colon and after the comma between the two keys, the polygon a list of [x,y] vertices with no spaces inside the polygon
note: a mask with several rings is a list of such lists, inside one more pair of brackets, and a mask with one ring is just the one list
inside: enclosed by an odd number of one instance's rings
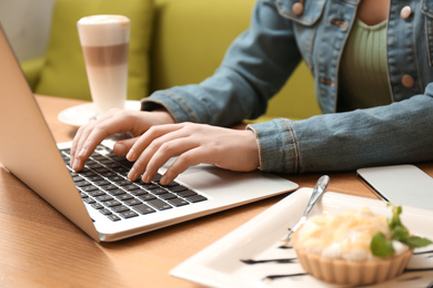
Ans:
{"label": "creamy pale yellow topping on the tart, beside mint leaves", "polygon": [[[361,261],[374,258],[370,244],[379,232],[391,238],[386,218],[363,208],[339,215],[312,216],[299,230],[298,243],[308,251],[330,259]],[[409,249],[400,241],[393,241],[393,246],[396,255]]]}

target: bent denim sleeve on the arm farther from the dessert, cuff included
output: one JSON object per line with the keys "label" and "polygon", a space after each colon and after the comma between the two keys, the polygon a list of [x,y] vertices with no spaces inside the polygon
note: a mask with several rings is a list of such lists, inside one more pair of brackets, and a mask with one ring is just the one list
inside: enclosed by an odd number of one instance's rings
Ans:
{"label": "bent denim sleeve on the arm farther from the dessert, cuff included", "polygon": [[194,85],[157,91],[143,109],[164,106],[177,122],[230,126],[255,119],[301,61],[291,22],[273,0],[259,0],[249,30],[229,48],[215,73]]}

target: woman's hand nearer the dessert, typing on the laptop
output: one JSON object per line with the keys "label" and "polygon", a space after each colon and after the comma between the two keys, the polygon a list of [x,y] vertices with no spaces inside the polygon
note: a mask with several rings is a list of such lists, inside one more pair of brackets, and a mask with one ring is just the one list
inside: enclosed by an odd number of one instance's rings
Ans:
{"label": "woman's hand nearer the dessert, typing on the laptop", "polygon": [[181,123],[155,125],[137,138],[120,141],[129,161],[135,161],[128,177],[149,183],[171,157],[161,184],[169,184],[188,167],[214,164],[221,168],[249,172],[259,167],[259,148],[252,131],[231,130],[205,124]]}

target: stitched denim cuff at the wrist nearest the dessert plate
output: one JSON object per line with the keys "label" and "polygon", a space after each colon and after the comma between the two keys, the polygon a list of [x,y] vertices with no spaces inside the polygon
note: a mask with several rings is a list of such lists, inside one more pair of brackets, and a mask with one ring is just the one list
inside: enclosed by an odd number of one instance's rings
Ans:
{"label": "stitched denim cuff at the wrist nearest the dessert plate", "polygon": [[290,120],[276,119],[246,128],[255,134],[261,171],[298,172],[299,153]]}

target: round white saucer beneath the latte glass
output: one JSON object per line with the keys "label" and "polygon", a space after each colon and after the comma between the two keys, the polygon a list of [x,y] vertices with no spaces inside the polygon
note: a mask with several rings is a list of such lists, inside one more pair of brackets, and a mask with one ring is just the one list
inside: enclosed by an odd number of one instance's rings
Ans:
{"label": "round white saucer beneath the latte glass", "polygon": [[[127,110],[140,110],[141,102],[129,100],[125,103]],[[63,110],[59,113],[60,122],[79,127],[95,119],[93,103],[85,103]]]}

